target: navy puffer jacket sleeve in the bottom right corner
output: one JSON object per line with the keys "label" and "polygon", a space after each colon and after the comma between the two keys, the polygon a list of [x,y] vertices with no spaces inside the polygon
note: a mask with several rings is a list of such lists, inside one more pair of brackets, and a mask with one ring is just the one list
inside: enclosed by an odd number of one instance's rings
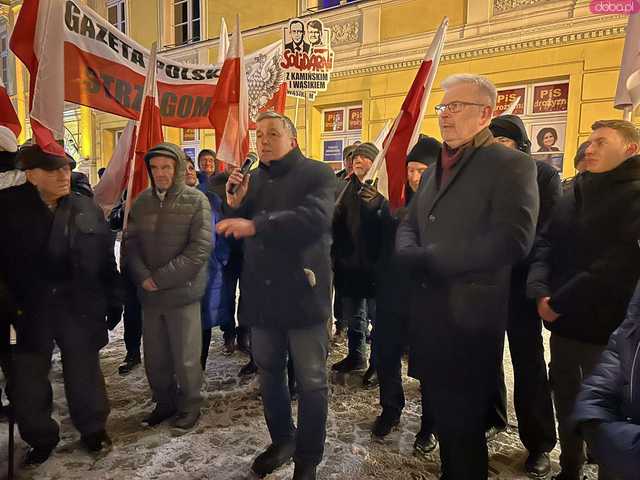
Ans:
{"label": "navy puffer jacket sleeve in the bottom right corner", "polygon": [[620,405],[624,389],[618,329],[600,363],[584,381],[574,420],[598,464],[621,478],[636,478],[640,471],[640,425],[625,421]]}

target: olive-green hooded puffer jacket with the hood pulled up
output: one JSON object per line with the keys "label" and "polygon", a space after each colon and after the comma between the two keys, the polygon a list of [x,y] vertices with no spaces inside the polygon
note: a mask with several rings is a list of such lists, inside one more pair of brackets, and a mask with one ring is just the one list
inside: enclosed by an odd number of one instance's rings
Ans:
{"label": "olive-green hooded puffer jacket with the hood pulled up", "polygon": [[[199,302],[207,283],[205,268],[211,251],[211,207],[201,191],[185,184],[184,152],[171,143],[152,150],[176,160],[173,185],[160,200],[145,157],[151,188],[136,199],[124,237],[124,259],[142,304],[179,307]],[[141,285],[153,278],[158,291]]]}

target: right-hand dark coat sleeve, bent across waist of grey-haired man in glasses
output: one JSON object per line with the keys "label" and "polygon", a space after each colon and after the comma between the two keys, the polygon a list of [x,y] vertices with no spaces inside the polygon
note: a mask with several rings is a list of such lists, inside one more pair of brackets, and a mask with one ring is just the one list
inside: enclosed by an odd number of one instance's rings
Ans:
{"label": "right-hand dark coat sleeve, bent across waist of grey-haired man in glasses", "polygon": [[412,247],[417,244],[414,201],[409,222],[398,232],[401,256],[408,253],[415,266],[443,277],[494,270],[523,260],[531,250],[538,220],[536,166],[524,156],[505,160],[499,164],[486,229],[469,238],[452,236],[446,242]]}

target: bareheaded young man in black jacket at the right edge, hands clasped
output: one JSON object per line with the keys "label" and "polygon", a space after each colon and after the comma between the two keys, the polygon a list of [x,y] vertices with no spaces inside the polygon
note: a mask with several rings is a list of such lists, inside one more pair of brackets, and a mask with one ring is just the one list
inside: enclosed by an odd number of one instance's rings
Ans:
{"label": "bareheaded young man in black jacket at the right edge, hands clasped", "polygon": [[537,239],[527,286],[551,330],[562,480],[582,478],[584,442],[571,422],[576,396],[624,318],[640,275],[640,135],[622,120],[592,128],[587,171]]}

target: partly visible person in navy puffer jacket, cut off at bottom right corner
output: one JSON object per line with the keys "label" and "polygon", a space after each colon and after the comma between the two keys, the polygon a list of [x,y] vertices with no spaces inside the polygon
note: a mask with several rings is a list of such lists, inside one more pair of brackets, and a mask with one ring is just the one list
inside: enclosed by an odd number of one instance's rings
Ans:
{"label": "partly visible person in navy puffer jacket, cut off at bottom right corner", "polygon": [[640,474],[640,282],[600,362],[582,385],[574,419],[599,470],[619,480]]}

